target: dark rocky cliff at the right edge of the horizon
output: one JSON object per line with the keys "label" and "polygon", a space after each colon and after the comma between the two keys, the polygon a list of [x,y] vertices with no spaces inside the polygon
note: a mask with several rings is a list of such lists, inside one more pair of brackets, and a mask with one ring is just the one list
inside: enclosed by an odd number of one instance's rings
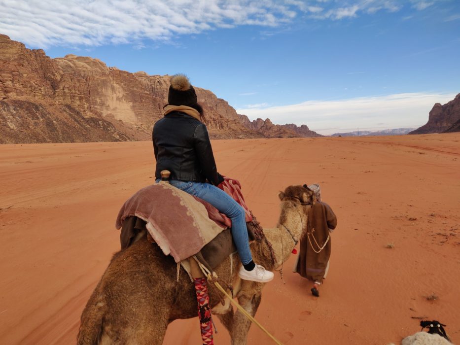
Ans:
{"label": "dark rocky cliff at the right edge of the horizon", "polygon": [[[409,134],[442,133],[447,130],[449,132],[457,132],[454,124],[459,120],[460,94],[458,94],[454,100],[444,105],[439,103],[434,104],[433,108],[429,112],[428,122],[424,126],[410,132]],[[452,129],[450,129],[450,127],[452,127]]]}

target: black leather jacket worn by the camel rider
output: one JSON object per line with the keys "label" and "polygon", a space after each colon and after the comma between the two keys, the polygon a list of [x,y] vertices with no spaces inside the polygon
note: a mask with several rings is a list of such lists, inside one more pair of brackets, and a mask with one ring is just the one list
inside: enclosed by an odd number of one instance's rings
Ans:
{"label": "black leather jacket worn by the camel rider", "polygon": [[162,170],[171,172],[171,179],[205,182],[218,185],[223,178],[217,173],[206,126],[180,111],[173,111],[153,126],[155,177]]}

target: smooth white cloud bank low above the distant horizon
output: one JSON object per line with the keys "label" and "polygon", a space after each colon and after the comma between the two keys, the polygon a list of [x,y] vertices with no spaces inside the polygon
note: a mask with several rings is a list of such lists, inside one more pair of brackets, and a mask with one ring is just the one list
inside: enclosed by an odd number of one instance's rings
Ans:
{"label": "smooth white cloud bank low above the distant horizon", "polygon": [[[285,106],[253,106],[237,109],[237,112],[251,120],[269,118],[274,124],[307,125],[312,131],[328,135],[358,127],[368,130],[420,127],[428,121],[428,113],[435,103],[445,104],[455,96],[407,93],[338,101],[308,101]],[[388,126],[382,128],[383,122]]]}

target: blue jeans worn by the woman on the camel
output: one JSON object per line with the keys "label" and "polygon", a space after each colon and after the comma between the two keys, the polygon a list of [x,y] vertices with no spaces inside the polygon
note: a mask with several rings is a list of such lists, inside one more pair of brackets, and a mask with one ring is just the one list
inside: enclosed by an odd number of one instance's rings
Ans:
{"label": "blue jeans worn by the woman on the camel", "polygon": [[170,183],[210,203],[219,212],[224,213],[232,220],[232,236],[235,242],[240,260],[243,264],[248,264],[252,260],[251,250],[249,249],[248,228],[246,227],[245,209],[238,204],[231,196],[223,190],[210,183],[193,181],[171,180]]}

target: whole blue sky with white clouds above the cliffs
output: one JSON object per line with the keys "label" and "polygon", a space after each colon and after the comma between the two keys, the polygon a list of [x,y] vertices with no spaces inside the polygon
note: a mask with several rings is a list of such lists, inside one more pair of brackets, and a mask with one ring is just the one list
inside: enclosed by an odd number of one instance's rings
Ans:
{"label": "whole blue sky with white clouds above the cliffs", "polygon": [[0,33],[321,134],[419,127],[460,93],[460,0],[0,0]]}

